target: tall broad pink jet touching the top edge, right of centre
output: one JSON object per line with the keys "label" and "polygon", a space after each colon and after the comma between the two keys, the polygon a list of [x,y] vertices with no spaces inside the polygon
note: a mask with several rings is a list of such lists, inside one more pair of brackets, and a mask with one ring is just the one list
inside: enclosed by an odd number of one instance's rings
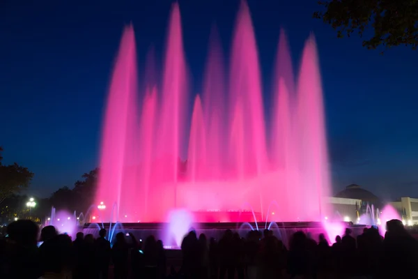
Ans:
{"label": "tall broad pink jet touching the top edge, right of centre", "polygon": [[[230,83],[230,112],[242,113],[245,123],[242,162],[245,176],[254,177],[265,171],[267,153],[256,39],[245,1],[241,2],[233,37]],[[242,110],[237,110],[240,105]]]}

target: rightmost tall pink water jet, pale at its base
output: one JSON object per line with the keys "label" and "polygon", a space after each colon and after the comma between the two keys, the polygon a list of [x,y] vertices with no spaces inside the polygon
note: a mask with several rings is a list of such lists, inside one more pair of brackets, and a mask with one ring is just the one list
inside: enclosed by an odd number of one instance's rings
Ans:
{"label": "rightmost tall pink water jet, pale at its base", "polygon": [[304,46],[297,80],[297,135],[300,165],[300,193],[306,206],[306,220],[323,216],[327,209],[323,197],[329,197],[327,141],[323,93],[314,36]]}

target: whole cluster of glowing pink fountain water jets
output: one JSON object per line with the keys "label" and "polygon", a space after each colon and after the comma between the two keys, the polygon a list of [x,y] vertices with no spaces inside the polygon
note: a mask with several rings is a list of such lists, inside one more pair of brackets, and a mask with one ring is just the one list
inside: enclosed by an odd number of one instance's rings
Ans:
{"label": "whole cluster of glowing pink fountain water jets", "polygon": [[[178,209],[196,222],[265,220],[273,201],[277,222],[323,220],[330,178],[314,38],[307,40],[295,82],[281,32],[268,121],[247,4],[242,1],[236,20],[229,70],[213,34],[202,98],[194,99],[189,119],[178,4],[171,10],[162,77],[146,73],[152,80],[142,92],[134,32],[125,29],[104,115],[95,202],[107,209],[116,203],[115,219],[134,223],[164,222]],[[153,84],[157,80],[162,83]],[[187,158],[180,158],[183,153]]]}

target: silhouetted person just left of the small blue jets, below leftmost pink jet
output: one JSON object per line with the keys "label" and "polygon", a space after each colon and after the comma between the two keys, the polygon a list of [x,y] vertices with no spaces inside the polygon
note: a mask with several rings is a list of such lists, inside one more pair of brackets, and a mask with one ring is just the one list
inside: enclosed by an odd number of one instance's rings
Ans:
{"label": "silhouetted person just left of the small blue jets, below leftmost pink jet", "polygon": [[100,229],[99,238],[95,240],[95,262],[98,277],[109,277],[109,262],[111,257],[110,242],[106,239],[106,229]]}

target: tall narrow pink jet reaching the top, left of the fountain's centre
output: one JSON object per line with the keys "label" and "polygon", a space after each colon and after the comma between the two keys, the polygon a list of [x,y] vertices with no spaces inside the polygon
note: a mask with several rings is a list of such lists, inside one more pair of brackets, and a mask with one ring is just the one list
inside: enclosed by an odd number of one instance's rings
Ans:
{"label": "tall narrow pink jet reaching the top, left of the fountain's centre", "polygon": [[181,140],[185,137],[187,110],[186,64],[183,52],[180,10],[174,3],[169,20],[169,34],[164,64],[160,123],[155,149],[157,165],[153,178],[154,202],[160,203],[156,216],[164,218],[167,209],[176,207],[178,164]]}

